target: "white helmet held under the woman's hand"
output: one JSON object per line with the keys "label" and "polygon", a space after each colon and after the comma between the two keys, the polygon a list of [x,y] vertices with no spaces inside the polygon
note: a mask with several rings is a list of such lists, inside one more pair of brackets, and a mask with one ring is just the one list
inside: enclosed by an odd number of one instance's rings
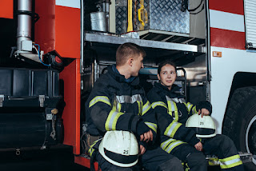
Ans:
{"label": "white helmet held under the woman's hand", "polygon": [[186,121],[186,127],[194,129],[197,137],[214,137],[216,125],[210,116],[193,114]]}

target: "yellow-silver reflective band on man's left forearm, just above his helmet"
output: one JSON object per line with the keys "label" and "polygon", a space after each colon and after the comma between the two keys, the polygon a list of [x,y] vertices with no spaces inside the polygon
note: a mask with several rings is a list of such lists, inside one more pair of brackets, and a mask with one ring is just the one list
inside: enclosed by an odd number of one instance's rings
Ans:
{"label": "yellow-silver reflective band on man's left forearm, just above his helmet", "polygon": [[112,109],[109,113],[109,116],[106,118],[106,123],[105,123],[105,128],[106,130],[116,130],[116,125],[118,122],[118,118],[122,115],[123,113],[115,111]]}

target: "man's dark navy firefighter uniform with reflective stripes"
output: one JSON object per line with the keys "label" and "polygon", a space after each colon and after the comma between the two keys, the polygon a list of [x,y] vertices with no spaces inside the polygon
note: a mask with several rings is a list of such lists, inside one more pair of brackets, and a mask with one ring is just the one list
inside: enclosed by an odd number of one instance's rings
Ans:
{"label": "man's dark navy firefighter uniform with reflective stripes", "polygon": [[[86,101],[86,123],[88,124],[86,131],[93,136],[104,136],[106,131],[127,130],[138,136],[151,129],[156,137],[156,118],[150,101],[147,100],[144,90],[138,83],[138,78],[126,79],[118,73],[115,66],[108,66],[108,72],[98,78]],[[96,157],[102,170],[122,170],[106,161],[98,153],[99,142],[91,145],[89,152],[91,156]],[[139,141],[139,144],[144,147],[147,145],[145,141]],[[142,155],[141,162],[146,169],[152,171],[182,170],[178,158],[166,153],[159,146],[154,149],[148,148]]]}

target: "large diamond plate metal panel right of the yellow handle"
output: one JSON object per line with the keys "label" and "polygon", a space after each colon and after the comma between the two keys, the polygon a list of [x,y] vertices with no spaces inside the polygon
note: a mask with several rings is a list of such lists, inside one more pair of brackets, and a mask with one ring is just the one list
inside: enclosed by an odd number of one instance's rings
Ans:
{"label": "large diamond plate metal panel right of the yellow handle", "polygon": [[150,0],[150,29],[190,34],[190,13],[180,0]]}

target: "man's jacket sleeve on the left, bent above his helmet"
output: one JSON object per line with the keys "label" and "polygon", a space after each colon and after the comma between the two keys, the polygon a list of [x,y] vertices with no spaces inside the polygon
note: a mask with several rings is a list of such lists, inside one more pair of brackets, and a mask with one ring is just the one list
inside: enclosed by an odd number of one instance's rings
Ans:
{"label": "man's jacket sleeve on the left, bent above his helmet", "polygon": [[112,104],[110,97],[113,97],[113,94],[110,94],[106,84],[97,82],[94,85],[87,103],[94,125],[103,133],[109,130],[127,130],[136,133],[139,116],[118,111],[118,107]]}

